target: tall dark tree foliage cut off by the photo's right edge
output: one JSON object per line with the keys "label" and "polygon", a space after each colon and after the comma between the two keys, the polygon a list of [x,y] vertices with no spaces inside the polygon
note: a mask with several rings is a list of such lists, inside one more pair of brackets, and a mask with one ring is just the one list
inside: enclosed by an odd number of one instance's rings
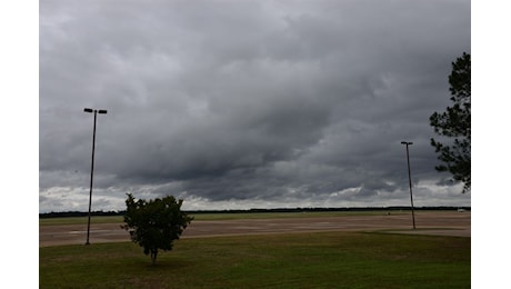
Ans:
{"label": "tall dark tree foliage cut off by the photo's right edge", "polygon": [[452,62],[452,72],[449,76],[452,107],[442,113],[434,112],[430,117],[430,124],[434,132],[447,137],[450,141],[442,143],[431,139],[431,146],[439,153],[442,162],[437,166],[438,171],[448,171],[454,181],[462,181],[463,192],[470,191],[470,54],[463,56]]}

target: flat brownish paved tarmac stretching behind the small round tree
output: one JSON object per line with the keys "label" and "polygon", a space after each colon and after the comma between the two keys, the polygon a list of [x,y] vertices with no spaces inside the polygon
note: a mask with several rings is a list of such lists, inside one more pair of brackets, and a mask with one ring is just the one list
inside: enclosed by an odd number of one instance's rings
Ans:
{"label": "flat brownish paved tarmac stretching behind the small round tree", "polygon": [[[122,223],[92,223],[90,243],[130,241]],[[411,213],[381,213],[381,216],[310,217],[282,219],[240,219],[192,221],[181,238],[216,236],[282,233],[300,231],[375,231],[471,237],[469,211],[415,211],[415,229]],[[40,226],[39,247],[80,245],[87,239],[87,223]]]}

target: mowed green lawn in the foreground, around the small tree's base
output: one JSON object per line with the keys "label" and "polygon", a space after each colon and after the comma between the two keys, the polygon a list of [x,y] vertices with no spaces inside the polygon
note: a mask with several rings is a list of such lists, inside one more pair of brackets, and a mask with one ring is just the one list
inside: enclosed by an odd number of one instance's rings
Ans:
{"label": "mowed green lawn in the foreground, around the small tree's base", "polygon": [[40,288],[470,288],[470,238],[308,232],[39,249]]}

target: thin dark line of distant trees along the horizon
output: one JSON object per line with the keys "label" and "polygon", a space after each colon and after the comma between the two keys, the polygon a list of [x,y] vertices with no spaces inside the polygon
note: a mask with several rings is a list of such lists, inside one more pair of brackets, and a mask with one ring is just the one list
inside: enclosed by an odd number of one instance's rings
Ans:
{"label": "thin dark line of distant trees along the horizon", "polygon": [[[471,207],[419,207],[414,210],[468,210]],[[277,208],[277,209],[249,209],[249,210],[190,210],[187,213],[250,213],[250,212],[321,212],[321,211],[402,211],[410,210],[410,207],[359,207],[359,208]],[[91,216],[123,216],[122,211],[93,211]],[[87,217],[88,212],[82,211],[62,211],[62,212],[43,212],[39,218],[59,218],[59,217]]]}

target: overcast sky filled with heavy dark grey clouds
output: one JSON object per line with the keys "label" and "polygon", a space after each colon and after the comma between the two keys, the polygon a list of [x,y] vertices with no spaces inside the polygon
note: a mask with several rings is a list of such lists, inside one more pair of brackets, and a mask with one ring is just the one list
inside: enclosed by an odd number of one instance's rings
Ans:
{"label": "overcast sky filled with heavy dark grey clouds", "polygon": [[470,206],[429,124],[467,0],[40,1],[39,211]]}

